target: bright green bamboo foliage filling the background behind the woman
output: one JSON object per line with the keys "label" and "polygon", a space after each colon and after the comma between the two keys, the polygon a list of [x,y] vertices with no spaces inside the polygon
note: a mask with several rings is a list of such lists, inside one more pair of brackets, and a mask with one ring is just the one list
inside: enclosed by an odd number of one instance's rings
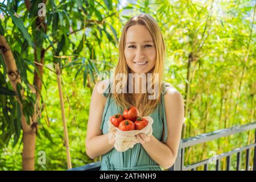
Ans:
{"label": "bright green bamboo foliage filling the background behind the woman", "polygon": [[[135,14],[151,14],[162,30],[167,52],[164,79],[186,101],[184,138],[255,121],[253,1],[138,1],[122,7],[114,0],[49,0],[46,30],[36,23],[42,1],[31,1],[30,11],[23,1],[7,2],[0,3],[0,35],[5,35],[14,53],[22,80],[18,90],[26,93],[22,102],[27,122],[36,99],[29,86],[38,72],[34,61],[40,62],[42,50],[46,51],[37,170],[67,169],[55,64],[60,64],[63,79],[72,167],[93,162],[85,154],[84,142],[92,87],[101,74],[109,76],[117,63],[122,26]],[[189,55],[193,61],[188,67]],[[20,108],[15,99],[21,96],[12,90],[0,56],[0,170],[22,166]],[[220,154],[253,140],[252,133],[220,139],[207,143],[203,154],[205,146],[191,147],[185,151],[185,164],[208,158],[210,150]],[[46,152],[45,165],[38,163],[39,151]]]}

